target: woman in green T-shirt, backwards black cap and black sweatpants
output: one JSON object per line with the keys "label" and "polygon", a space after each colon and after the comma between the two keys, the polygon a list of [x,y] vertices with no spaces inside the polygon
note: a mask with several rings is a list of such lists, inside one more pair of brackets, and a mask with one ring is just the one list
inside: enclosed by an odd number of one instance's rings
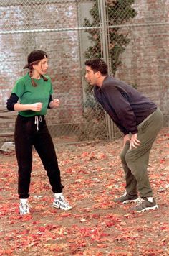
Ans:
{"label": "woman in green T-shirt, backwards black cap and black sweatpants", "polygon": [[[44,74],[48,68],[47,53],[34,50],[28,55],[29,73],[19,78],[7,100],[7,109],[19,111],[16,118],[14,140],[19,168],[18,193],[20,214],[29,214],[29,186],[32,172],[32,147],[39,154],[49,183],[54,193],[53,206],[63,210],[72,209],[62,194],[60,170],[54,144],[45,121],[47,108],[59,106],[58,99],[52,99],[51,79]],[[19,103],[18,103],[19,101]]]}

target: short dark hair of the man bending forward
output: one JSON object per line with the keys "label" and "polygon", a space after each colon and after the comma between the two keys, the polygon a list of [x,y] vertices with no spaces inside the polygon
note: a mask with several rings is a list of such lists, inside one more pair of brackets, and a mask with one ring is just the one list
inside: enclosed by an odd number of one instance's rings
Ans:
{"label": "short dark hair of the man bending forward", "polygon": [[104,60],[97,58],[97,59],[91,59],[91,60],[86,60],[85,65],[88,65],[94,72],[100,71],[102,76],[107,76],[107,64],[105,63]]}

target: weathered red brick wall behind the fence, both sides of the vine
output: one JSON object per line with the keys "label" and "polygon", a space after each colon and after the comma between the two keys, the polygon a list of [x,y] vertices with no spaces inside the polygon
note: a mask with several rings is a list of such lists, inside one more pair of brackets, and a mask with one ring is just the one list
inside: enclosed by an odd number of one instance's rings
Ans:
{"label": "weathered red brick wall behind the fence, both sides of the vine", "polygon": [[[65,31],[62,28],[82,26],[85,12],[90,11],[92,1],[82,2],[79,13],[76,1],[47,1],[46,4],[42,2],[41,7],[36,5],[41,2],[38,0],[34,1],[34,6],[30,5],[29,1],[25,4],[26,0],[24,4],[21,4],[21,0],[15,5],[12,1],[9,2],[9,6],[0,3],[1,31],[54,28],[60,30],[0,34],[0,105],[5,106],[16,79],[26,72],[22,69],[26,56],[34,49],[42,49],[49,54],[48,74],[52,78],[54,96],[61,100],[57,110],[48,111],[49,124],[81,122],[81,67],[84,68],[83,52],[90,40],[87,33],[79,40],[79,34],[82,33],[77,30]],[[160,0],[137,0],[133,6],[138,14],[132,23],[140,26],[131,27],[130,45],[121,56],[122,66],[116,76],[128,83],[137,84],[139,91],[160,106],[165,115],[165,125],[169,125],[168,25],[142,25],[150,22],[168,22],[169,3],[167,0],[163,0],[163,4]]]}

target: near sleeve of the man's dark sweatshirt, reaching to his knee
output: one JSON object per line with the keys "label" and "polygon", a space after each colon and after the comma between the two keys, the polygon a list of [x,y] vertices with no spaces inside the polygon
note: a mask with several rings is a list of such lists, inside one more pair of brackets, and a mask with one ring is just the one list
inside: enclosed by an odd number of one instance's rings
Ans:
{"label": "near sleeve of the man's dark sweatshirt, reaching to his knee", "polygon": [[117,120],[115,120],[117,126],[124,134],[131,132],[137,133],[136,117],[130,106],[130,102],[127,99],[125,93],[122,94],[120,90],[115,86],[105,86],[102,89],[107,99],[107,104],[110,105],[110,109],[115,112]]}

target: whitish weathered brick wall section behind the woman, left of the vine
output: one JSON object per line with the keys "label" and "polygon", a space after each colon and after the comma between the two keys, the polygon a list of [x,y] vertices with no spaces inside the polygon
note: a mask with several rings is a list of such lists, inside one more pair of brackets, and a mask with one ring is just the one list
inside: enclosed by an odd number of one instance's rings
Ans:
{"label": "whitish weathered brick wall section behind the woman, left of the vine", "polygon": [[[38,1],[34,1],[34,6],[20,2],[10,6],[0,4],[0,30],[77,27],[77,4],[74,1],[68,4],[47,1],[41,7],[36,6]],[[61,101],[57,110],[48,111],[49,124],[80,122],[83,103],[78,32],[61,30],[0,35],[1,106],[5,106],[16,79],[27,72],[23,66],[29,52],[42,49],[49,54],[48,75],[52,78],[54,97]]]}

